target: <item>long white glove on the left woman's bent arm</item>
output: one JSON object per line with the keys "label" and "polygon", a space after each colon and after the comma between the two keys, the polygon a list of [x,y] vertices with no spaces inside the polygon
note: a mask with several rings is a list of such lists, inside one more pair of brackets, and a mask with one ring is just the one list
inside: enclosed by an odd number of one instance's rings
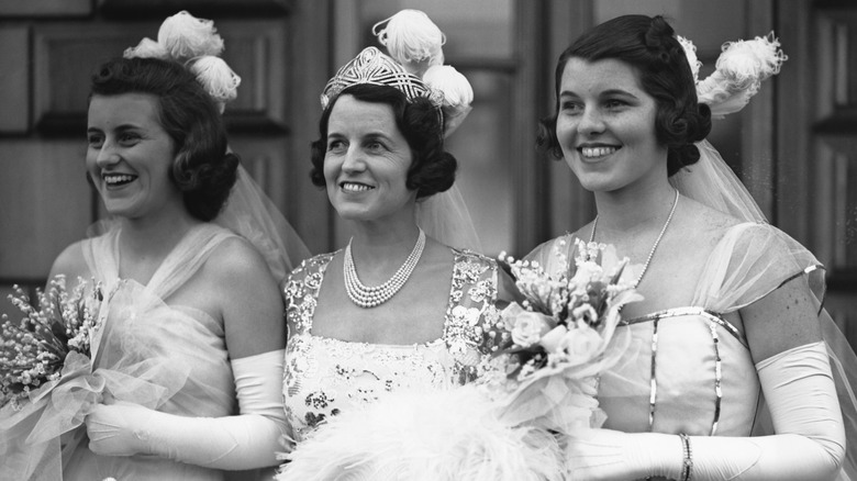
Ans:
{"label": "long white glove on the left woman's bent arm", "polygon": [[277,465],[286,434],[282,406],[285,350],[232,361],[241,414],[187,417],[129,402],[100,404],[87,416],[97,455],[157,455],[190,465],[242,470]]}

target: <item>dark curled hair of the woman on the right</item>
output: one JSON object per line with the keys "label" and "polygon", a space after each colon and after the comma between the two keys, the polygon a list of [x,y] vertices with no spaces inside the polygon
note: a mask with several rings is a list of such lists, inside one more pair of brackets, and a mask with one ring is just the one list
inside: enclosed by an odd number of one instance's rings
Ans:
{"label": "dark curled hair of the woman on the right", "polygon": [[693,74],[672,27],[660,15],[624,15],[581,35],[559,56],[556,67],[557,113],[539,121],[537,144],[563,157],[556,137],[559,88],[570,58],[597,61],[615,58],[631,65],[643,90],[655,99],[655,135],[668,148],[667,174],[699,160],[700,142],[711,132],[711,110],[699,103]]}

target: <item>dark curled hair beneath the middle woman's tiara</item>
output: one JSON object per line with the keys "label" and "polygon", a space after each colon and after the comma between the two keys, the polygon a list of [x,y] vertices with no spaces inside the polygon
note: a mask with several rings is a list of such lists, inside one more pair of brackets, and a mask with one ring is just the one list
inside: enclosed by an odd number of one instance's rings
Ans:
{"label": "dark curled hair beneath the middle woman's tiara", "polygon": [[429,99],[418,98],[408,102],[404,93],[393,87],[369,83],[357,83],[344,89],[322,112],[319,122],[321,137],[311,145],[312,183],[319,187],[325,186],[324,156],[327,150],[327,122],[336,101],[345,94],[363,102],[385,103],[392,108],[396,126],[411,148],[413,160],[408,169],[405,187],[408,190],[416,191],[416,199],[425,199],[453,187],[458,161],[452,154],[444,152],[443,124],[437,115],[437,109]]}

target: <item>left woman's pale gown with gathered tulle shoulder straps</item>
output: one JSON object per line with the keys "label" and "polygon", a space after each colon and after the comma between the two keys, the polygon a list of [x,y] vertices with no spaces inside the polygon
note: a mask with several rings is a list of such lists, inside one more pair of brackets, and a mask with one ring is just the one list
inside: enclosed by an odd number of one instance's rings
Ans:
{"label": "left woman's pale gown with gathered tulle shoulder straps", "polygon": [[[236,411],[235,385],[221,321],[200,310],[165,301],[204,264],[231,231],[213,224],[192,228],[158,267],[148,284],[119,279],[119,228],[84,242],[90,271],[109,297],[107,316],[93,340],[96,368],[105,374],[130,376],[108,389],[127,400],[182,415],[220,417]],[[123,395],[129,382],[145,384],[135,395]],[[146,395],[141,395],[144,392]],[[130,398],[130,399],[129,399]],[[224,472],[156,456],[98,456],[87,447],[86,428],[64,467],[65,480],[222,480]],[[74,445],[73,445],[74,446]]]}

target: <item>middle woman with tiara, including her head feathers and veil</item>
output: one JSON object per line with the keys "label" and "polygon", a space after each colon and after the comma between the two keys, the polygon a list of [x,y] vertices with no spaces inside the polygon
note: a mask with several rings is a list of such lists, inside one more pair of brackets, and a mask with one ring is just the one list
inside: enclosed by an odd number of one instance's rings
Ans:
{"label": "middle woman with tiara, including her head feathers and veil", "polygon": [[[364,49],[322,93],[312,180],[354,236],[305,260],[286,287],[282,388],[296,450],[282,480],[334,479],[349,463],[341,448],[390,446],[381,424],[355,432],[337,423],[343,416],[360,418],[391,393],[475,380],[488,354],[482,326],[507,295],[497,262],[465,249],[478,239],[452,190],[457,161],[444,150],[469,110],[469,85],[443,65],[443,34],[423,12],[399,12],[376,33],[392,57]],[[427,45],[409,43],[418,37]],[[393,413],[383,417],[394,424]],[[363,461],[345,476],[382,479]]]}

